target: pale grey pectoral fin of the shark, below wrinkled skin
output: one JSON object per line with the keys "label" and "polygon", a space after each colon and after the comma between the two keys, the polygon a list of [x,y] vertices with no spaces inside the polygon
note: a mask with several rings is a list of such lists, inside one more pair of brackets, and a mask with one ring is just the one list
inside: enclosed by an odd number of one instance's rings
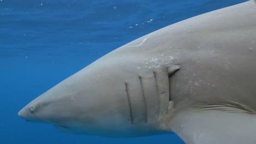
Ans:
{"label": "pale grey pectoral fin of the shark, below wrinkled skin", "polygon": [[248,113],[183,110],[170,127],[187,144],[256,143],[256,116]]}

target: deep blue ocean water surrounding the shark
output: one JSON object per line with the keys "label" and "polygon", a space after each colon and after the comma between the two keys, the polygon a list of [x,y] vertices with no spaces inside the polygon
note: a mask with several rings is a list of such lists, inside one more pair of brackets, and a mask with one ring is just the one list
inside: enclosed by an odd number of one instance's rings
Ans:
{"label": "deep blue ocean water surrounding the shark", "polygon": [[0,143],[183,143],[66,134],[18,111],[117,47],[189,17],[246,0],[0,0]]}

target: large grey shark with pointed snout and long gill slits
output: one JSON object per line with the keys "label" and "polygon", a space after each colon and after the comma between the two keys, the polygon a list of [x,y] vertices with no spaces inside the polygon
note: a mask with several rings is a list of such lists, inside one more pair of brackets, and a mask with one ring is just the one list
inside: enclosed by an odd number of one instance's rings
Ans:
{"label": "large grey shark with pointed snout and long gill slits", "polygon": [[18,115],[74,134],[176,133],[185,143],[256,142],[256,4],[174,23],[119,47]]}

